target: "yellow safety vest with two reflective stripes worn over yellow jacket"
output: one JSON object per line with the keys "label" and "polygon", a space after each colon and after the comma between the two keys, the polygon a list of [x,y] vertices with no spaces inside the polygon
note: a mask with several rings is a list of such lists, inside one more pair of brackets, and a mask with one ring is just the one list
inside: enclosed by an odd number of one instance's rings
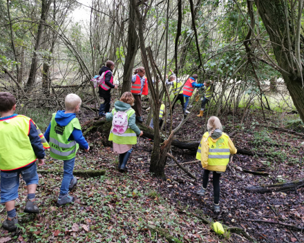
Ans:
{"label": "yellow safety vest with two reflective stripes worn over yellow jacket", "polygon": [[209,166],[227,166],[229,163],[229,144],[226,136],[221,136],[216,142],[213,142],[211,137],[208,138],[209,153],[208,165]]}

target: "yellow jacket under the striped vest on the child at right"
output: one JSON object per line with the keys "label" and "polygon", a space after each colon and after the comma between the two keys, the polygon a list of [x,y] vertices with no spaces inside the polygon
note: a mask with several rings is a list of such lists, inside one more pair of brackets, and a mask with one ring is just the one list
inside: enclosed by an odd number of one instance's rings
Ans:
{"label": "yellow jacket under the striped vest on the child at right", "polygon": [[[225,172],[227,166],[210,166],[210,165],[208,165],[209,142],[208,142],[208,140],[207,140],[207,142],[205,142],[208,135],[209,135],[209,133],[207,132],[202,136],[202,142],[201,142],[201,144],[202,144],[202,147],[201,147],[202,168],[206,168],[208,171]],[[231,141],[230,137],[226,133],[222,133],[222,136],[218,137],[217,139],[213,139],[212,137],[209,137],[209,139],[211,139],[212,142],[217,142],[218,139],[220,139],[220,138],[228,139],[228,145],[229,145],[229,150],[230,150],[231,155],[236,154],[236,152],[237,152],[236,147],[234,146],[234,143]]]}

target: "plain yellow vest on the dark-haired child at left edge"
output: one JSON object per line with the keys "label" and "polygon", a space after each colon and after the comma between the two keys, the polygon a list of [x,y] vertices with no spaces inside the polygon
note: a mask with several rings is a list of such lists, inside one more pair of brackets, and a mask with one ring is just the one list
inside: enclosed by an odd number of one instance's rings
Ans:
{"label": "plain yellow vest on the dark-haired child at left edge", "polygon": [[32,119],[17,115],[0,120],[0,170],[12,171],[35,162],[37,159],[30,144]]}

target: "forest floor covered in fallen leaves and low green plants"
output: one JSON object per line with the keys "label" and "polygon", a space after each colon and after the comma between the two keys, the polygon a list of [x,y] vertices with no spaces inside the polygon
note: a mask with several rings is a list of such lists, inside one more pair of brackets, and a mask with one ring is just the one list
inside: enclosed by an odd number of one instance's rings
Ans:
{"label": "forest floor covered in fallen leaves and low green plants", "polygon": [[[205,117],[190,114],[177,137],[183,140],[200,141]],[[206,115],[206,114],[205,114]],[[285,224],[304,224],[304,189],[278,193],[247,193],[245,187],[287,182],[304,177],[301,158],[304,157],[304,137],[283,133],[260,125],[266,125],[260,110],[251,110],[245,126],[236,128],[242,114],[222,115],[220,120],[225,133],[237,129],[234,142],[237,148],[254,150],[260,156],[234,155],[233,162],[220,179],[221,213],[212,210],[212,175],[204,198],[196,195],[202,182],[200,162],[186,167],[198,178],[194,181],[177,166],[167,166],[167,181],[151,177],[149,160],[152,144],[149,139],[138,138],[129,159],[129,172],[117,171],[117,155],[111,147],[104,147],[96,134],[88,135],[91,144],[89,153],[79,150],[75,170],[105,170],[100,177],[78,177],[75,203],[57,208],[57,195],[62,173],[39,174],[37,200],[41,213],[28,215],[23,212],[26,188],[22,182],[17,200],[20,227],[15,233],[0,230],[0,242],[170,242],[171,237],[181,242],[249,242],[243,235],[227,233],[216,235],[208,224],[222,222],[227,226],[245,229],[256,242],[304,242],[301,231],[286,226],[251,222],[251,220],[273,220]],[[80,114],[82,123],[92,114]],[[296,115],[265,112],[269,126],[283,127],[296,120]],[[145,117],[145,116],[144,116]],[[35,117],[32,117],[35,119]],[[173,113],[173,127],[182,119],[180,105]],[[294,123],[296,124],[296,123]],[[303,127],[288,128],[303,133]],[[172,154],[178,162],[196,160],[196,151],[180,150],[172,146]],[[47,153],[48,154],[48,153]],[[173,165],[168,159],[168,165]],[[40,169],[63,170],[62,162],[46,157],[46,166]],[[263,171],[268,176],[244,173],[240,168]],[[2,222],[6,218],[4,205],[0,206]],[[150,231],[149,225],[158,226],[164,232]],[[168,233],[168,236],[166,234]],[[172,242],[172,241],[171,241]]]}

